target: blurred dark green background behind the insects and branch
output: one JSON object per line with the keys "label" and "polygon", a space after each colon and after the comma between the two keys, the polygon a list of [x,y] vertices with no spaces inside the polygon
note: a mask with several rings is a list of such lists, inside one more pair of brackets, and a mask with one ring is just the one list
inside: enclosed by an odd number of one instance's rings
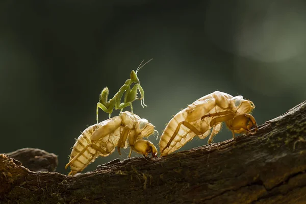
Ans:
{"label": "blurred dark green background behind the insects and branch", "polygon": [[[138,72],[148,107],[133,106],[160,133],[216,90],[252,100],[262,124],[306,99],[305,10],[303,0],[1,1],[0,152],[44,149],[67,173],[100,91],[108,86],[112,97],[151,58]],[[214,141],[231,138],[223,127]],[[195,138],[180,150],[205,144]],[[116,150],[84,172],[128,153]]]}

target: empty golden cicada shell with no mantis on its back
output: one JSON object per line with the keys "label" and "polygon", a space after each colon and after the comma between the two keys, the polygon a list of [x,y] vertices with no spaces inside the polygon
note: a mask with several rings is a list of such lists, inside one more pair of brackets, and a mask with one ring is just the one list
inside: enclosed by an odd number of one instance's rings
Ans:
{"label": "empty golden cicada shell with no mantis on its back", "polygon": [[161,156],[180,149],[197,135],[200,139],[210,133],[208,143],[221,130],[222,122],[233,133],[248,133],[257,123],[249,113],[255,108],[252,101],[242,96],[215,91],[194,101],[193,104],[177,113],[167,124],[160,142]]}

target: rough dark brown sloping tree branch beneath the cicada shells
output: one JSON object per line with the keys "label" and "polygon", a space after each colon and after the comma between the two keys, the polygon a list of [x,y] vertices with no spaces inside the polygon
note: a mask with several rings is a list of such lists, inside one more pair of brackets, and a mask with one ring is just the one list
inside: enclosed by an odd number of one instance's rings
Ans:
{"label": "rough dark brown sloping tree branch beneath the cicada shells", "polygon": [[305,203],[306,103],[238,136],[66,176],[0,155],[2,203]]}

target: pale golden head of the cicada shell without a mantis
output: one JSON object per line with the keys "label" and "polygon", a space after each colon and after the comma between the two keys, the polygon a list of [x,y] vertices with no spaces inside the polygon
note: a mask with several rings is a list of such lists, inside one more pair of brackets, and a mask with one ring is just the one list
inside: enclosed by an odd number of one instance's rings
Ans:
{"label": "pale golden head of the cicada shell without a mantis", "polygon": [[242,115],[245,113],[250,113],[254,108],[254,104],[250,100],[243,99],[242,96],[235,96],[231,99],[231,106],[237,115]]}

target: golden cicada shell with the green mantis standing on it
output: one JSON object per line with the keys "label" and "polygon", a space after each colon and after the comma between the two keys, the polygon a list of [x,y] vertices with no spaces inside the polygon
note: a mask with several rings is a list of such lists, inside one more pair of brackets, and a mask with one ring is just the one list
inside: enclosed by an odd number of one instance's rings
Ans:
{"label": "golden cicada shell with the green mantis standing on it", "polygon": [[69,163],[65,166],[67,169],[70,165],[71,171],[68,175],[83,171],[99,156],[109,156],[116,146],[121,155],[120,148],[127,147],[127,140],[131,147],[129,158],[133,150],[144,157],[150,153],[152,158],[157,157],[154,144],[143,139],[157,132],[154,128],[146,119],[129,111],[89,126],[72,147]]}

